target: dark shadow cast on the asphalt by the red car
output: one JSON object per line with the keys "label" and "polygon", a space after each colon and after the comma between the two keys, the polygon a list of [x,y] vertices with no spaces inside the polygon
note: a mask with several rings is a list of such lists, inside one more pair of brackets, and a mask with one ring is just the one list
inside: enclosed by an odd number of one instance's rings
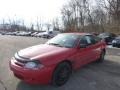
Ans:
{"label": "dark shadow cast on the asphalt by the red car", "polygon": [[[101,84],[101,82],[109,76],[120,77],[120,63],[110,60],[105,60],[103,63],[90,63],[79,70],[73,71],[70,80],[61,87],[54,87],[52,85],[29,85],[20,81],[16,90],[102,90],[104,89],[104,85],[109,84],[109,81],[107,84]],[[106,79],[106,81],[107,80],[108,79]],[[97,87],[96,84],[99,86]]]}

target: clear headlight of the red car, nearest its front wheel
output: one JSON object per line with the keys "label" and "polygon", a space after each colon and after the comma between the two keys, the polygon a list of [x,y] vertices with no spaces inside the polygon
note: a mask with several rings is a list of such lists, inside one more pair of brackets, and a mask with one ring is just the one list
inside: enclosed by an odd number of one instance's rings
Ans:
{"label": "clear headlight of the red car, nearest its front wheel", "polygon": [[39,68],[42,68],[43,65],[40,63],[36,63],[34,61],[30,61],[30,62],[27,62],[24,67],[27,69],[39,69]]}

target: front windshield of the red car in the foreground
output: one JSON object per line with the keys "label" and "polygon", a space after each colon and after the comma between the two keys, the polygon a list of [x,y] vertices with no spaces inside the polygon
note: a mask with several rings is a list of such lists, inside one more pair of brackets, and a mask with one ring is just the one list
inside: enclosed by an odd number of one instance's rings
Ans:
{"label": "front windshield of the red car in the foreground", "polygon": [[80,35],[75,34],[59,34],[56,37],[49,40],[46,44],[56,45],[59,47],[73,48],[76,45],[76,41],[80,38]]}

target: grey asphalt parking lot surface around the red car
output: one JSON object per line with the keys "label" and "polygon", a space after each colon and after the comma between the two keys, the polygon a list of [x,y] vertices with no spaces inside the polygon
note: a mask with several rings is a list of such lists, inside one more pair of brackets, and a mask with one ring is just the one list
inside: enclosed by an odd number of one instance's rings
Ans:
{"label": "grey asphalt parking lot surface around the red car", "polygon": [[46,41],[43,38],[0,35],[0,90],[5,87],[7,90],[120,90],[120,49],[117,48],[107,49],[103,63],[91,63],[74,71],[61,87],[28,85],[15,78],[9,69],[14,53]]}

